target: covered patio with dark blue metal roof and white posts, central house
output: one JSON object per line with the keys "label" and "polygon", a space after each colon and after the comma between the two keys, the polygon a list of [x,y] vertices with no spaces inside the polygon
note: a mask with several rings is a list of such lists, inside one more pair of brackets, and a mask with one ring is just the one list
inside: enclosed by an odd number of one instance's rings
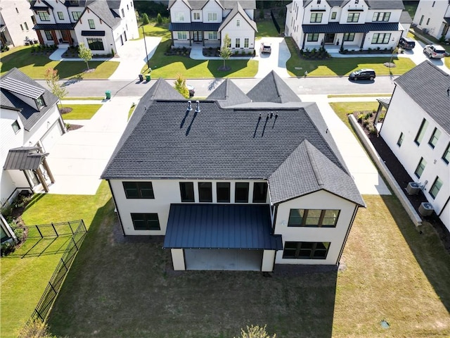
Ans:
{"label": "covered patio with dark blue metal roof and white posts, central house", "polygon": [[174,270],[274,270],[283,249],[269,205],[172,204],[165,249]]}

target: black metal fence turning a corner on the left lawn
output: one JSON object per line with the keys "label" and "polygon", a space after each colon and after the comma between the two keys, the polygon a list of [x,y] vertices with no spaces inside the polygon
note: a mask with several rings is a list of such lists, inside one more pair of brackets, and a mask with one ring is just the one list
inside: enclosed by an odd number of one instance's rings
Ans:
{"label": "black metal fence turning a corner on the left lawn", "polygon": [[49,284],[47,284],[44,294],[42,294],[36,308],[34,308],[34,311],[30,319],[25,324],[23,331],[20,332],[19,338],[25,337],[25,330],[27,327],[30,327],[34,321],[39,320],[44,322],[44,320],[46,320],[51,306],[53,305],[53,302],[55,301],[56,296],[63,285],[64,278],[70,269],[70,265],[72,265],[72,262],[84,240],[84,237],[86,237],[87,232],[83,220],[55,224],[52,223],[51,225],[33,225],[27,228],[31,228],[36,231],[36,234],[40,234],[38,235],[38,238],[51,237],[50,234],[52,231],[53,237],[63,234],[72,234],[72,237],[70,238],[70,242],[68,247],[65,249],[63,256],[58,262],[58,266],[56,266],[56,269],[50,278]]}

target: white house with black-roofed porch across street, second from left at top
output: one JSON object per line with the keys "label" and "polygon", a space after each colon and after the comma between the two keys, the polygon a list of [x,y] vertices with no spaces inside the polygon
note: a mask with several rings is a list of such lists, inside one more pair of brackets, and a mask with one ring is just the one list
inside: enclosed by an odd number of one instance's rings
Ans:
{"label": "white house with black-roofed porch across street, second from left at top", "polygon": [[93,54],[110,54],[139,37],[132,0],[34,0],[31,8],[41,44],[84,43]]}

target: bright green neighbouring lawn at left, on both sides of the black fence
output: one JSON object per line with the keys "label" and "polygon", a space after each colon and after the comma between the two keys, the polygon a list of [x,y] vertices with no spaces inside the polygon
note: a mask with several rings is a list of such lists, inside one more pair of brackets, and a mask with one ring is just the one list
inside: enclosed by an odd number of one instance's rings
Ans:
{"label": "bright green neighbouring lawn at left, on both sides of the black fence", "polygon": [[[103,218],[103,206],[109,199],[110,190],[106,182],[102,182],[95,196],[37,194],[23,214],[23,220],[27,225],[35,225],[83,219],[89,228]],[[13,256],[1,258],[0,337],[18,337],[63,254],[61,246],[65,240],[58,239],[42,256],[29,254],[20,258],[30,249],[35,241],[33,240],[25,242]],[[42,241],[39,246],[42,247],[45,243],[46,241]],[[36,249],[37,247],[33,252]],[[51,251],[54,253],[48,254]]]}

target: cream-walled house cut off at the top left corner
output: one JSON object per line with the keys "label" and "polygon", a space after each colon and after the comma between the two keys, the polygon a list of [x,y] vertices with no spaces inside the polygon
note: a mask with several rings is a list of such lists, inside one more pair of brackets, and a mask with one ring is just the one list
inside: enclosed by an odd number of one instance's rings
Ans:
{"label": "cream-walled house cut off at the top left corner", "polygon": [[0,3],[1,46],[23,46],[37,40],[33,30],[33,13],[27,0],[4,0]]}

